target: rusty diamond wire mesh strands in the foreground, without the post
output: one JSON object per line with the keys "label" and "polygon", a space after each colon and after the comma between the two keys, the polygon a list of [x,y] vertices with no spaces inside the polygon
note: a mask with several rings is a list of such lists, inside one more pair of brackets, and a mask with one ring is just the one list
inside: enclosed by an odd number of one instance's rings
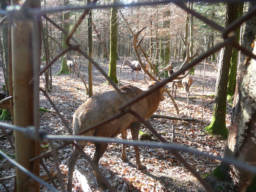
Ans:
{"label": "rusty diamond wire mesh strands in the foreground, without the post", "polygon": [[[201,0],[202,1],[202,0]],[[207,2],[244,2],[244,0],[204,0]],[[101,122],[98,122],[97,124],[94,124],[93,126],[87,128],[86,131],[81,132],[79,135],[72,135],[72,129],[68,126],[67,122],[64,120],[64,118],[62,117],[62,115],[60,114],[58,108],[54,105],[53,101],[49,98],[49,96],[45,93],[44,90],[42,90],[40,88],[40,90],[43,92],[43,94],[45,95],[45,97],[49,100],[49,102],[51,103],[51,105],[53,106],[53,109],[56,110],[56,113],[58,114],[58,116],[60,117],[60,119],[62,120],[64,126],[67,128],[68,132],[70,133],[69,136],[56,136],[56,135],[48,135],[47,133],[45,133],[44,131],[42,131],[41,129],[39,129],[39,127],[30,127],[30,128],[23,128],[23,127],[18,127],[18,126],[14,126],[14,125],[10,125],[10,124],[4,124],[4,123],[0,123],[0,127],[3,130],[3,133],[6,135],[6,137],[8,138],[8,141],[11,144],[11,147],[14,148],[12,141],[10,139],[10,137],[8,136],[8,134],[4,131],[3,128],[8,128],[11,130],[17,130],[19,132],[24,132],[24,134],[26,134],[29,138],[31,139],[35,139],[38,141],[41,141],[42,139],[48,139],[50,146],[52,147],[52,151],[46,152],[44,154],[39,155],[38,157],[34,157],[32,159],[30,159],[30,161],[34,161],[36,159],[41,159],[44,158],[46,156],[52,155],[55,165],[56,165],[56,169],[58,171],[58,177],[59,177],[59,182],[60,182],[60,186],[62,190],[65,190],[65,184],[61,175],[61,171],[59,169],[59,162],[58,162],[58,158],[56,156],[55,151],[67,146],[67,145],[74,145],[75,147],[78,147],[76,145],[76,143],[74,143],[74,140],[83,140],[83,141],[94,141],[94,142],[103,142],[103,143],[122,143],[122,144],[129,144],[129,145],[134,145],[134,146],[147,146],[147,147],[159,147],[159,148],[165,148],[170,150],[178,159],[180,162],[182,162],[184,164],[184,166],[193,173],[193,175],[203,184],[203,186],[208,190],[208,191],[213,191],[213,189],[210,187],[209,184],[207,184],[206,181],[204,181],[199,173],[197,173],[189,164],[188,162],[186,162],[184,160],[184,158],[182,158],[182,156],[178,153],[178,151],[185,151],[185,152],[189,152],[189,153],[193,153],[193,154],[199,154],[208,158],[214,158],[214,159],[218,159],[222,162],[227,162],[227,163],[232,163],[234,165],[240,166],[242,169],[248,170],[251,173],[256,173],[256,168],[254,166],[250,166],[245,164],[245,162],[239,162],[236,159],[232,159],[232,158],[222,158],[220,156],[216,156],[216,155],[211,155],[211,154],[207,154],[201,151],[197,151],[197,150],[193,150],[189,147],[186,146],[178,146],[175,144],[171,144],[168,143],[160,134],[158,134],[158,132],[156,132],[154,130],[154,128],[147,123],[147,121],[145,121],[142,117],[139,117],[138,114],[136,114],[135,112],[131,111],[129,109],[129,106],[135,104],[136,102],[138,102],[139,100],[141,100],[142,98],[146,97],[147,95],[151,94],[153,91],[158,90],[161,87],[164,87],[166,85],[166,83],[171,82],[174,78],[176,78],[178,75],[180,75],[182,72],[187,71],[188,69],[190,69],[191,67],[195,66],[196,64],[198,64],[200,61],[202,61],[204,58],[206,58],[207,56],[210,56],[212,53],[215,53],[216,51],[222,49],[223,47],[229,45],[232,46],[233,48],[240,50],[241,53],[250,56],[254,59],[256,59],[256,56],[254,54],[252,54],[249,50],[241,47],[241,45],[239,45],[239,43],[237,42],[237,39],[235,37],[235,35],[233,35],[234,33],[233,30],[235,29],[236,26],[241,25],[243,22],[245,22],[246,20],[250,19],[252,16],[256,15],[256,7],[252,8],[252,10],[250,12],[248,12],[247,14],[245,14],[244,16],[240,17],[239,19],[237,19],[235,22],[233,22],[231,25],[229,25],[228,27],[224,28],[222,26],[219,26],[217,23],[214,23],[213,21],[211,21],[210,19],[207,19],[206,17],[204,17],[203,15],[200,15],[199,13],[197,13],[196,11],[193,11],[189,8],[187,8],[187,6],[184,4],[184,2],[181,2],[180,0],[164,0],[164,1],[154,1],[154,2],[141,2],[141,3],[134,3],[134,4],[97,4],[96,3],[97,0],[94,0],[91,4],[87,5],[87,6],[79,6],[79,7],[60,7],[60,8],[54,8],[54,9],[45,9],[45,10],[40,10],[40,9],[33,9],[33,8],[26,8],[26,11],[24,11],[23,9],[17,9],[13,6],[12,9],[8,9],[8,10],[1,10],[0,14],[1,15],[5,15],[6,17],[4,19],[2,19],[2,21],[0,22],[0,24],[2,25],[2,23],[4,23],[5,21],[9,20],[9,21],[15,21],[15,19],[17,19],[17,17],[19,16],[24,16],[24,14],[32,14],[35,16],[35,18],[39,18],[39,17],[44,17],[45,19],[47,19],[50,23],[52,23],[56,28],[58,28],[60,31],[62,31],[64,34],[68,35],[66,44],[68,45],[68,48],[64,49],[63,51],[61,51],[57,56],[55,56],[53,58],[53,60],[51,60],[51,62],[49,64],[47,64],[45,66],[45,68],[43,68],[38,75],[35,75],[33,79],[31,79],[31,82],[38,80],[39,79],[39,75],[42,75],[45,70],[47,68],[49,68],[58,58],[60,58],[62,55],[64,55],[65,53],[68,53],[71,50],[75,50],[78,53],[82,54],[87,60],[89,60],[90,62],[92,62],[92,64],[102,73],[102,75],[104,75],[104,77],[109,81],[109,83],[111,83],[111,85],[113,86],[113,88],[115,90],[117,90],[117,92],[120,93],[120,90],[118,89],[118,87],[116,86],[115,83],[113,83],[113,81],[109,78],[109,76],[102,70],[102,68],[99,66],[99,64],[97,62],[95,62],[90,56],[87,55],[87,53],[85,53],[82,49],[80,49],[80,43],[78,40],[76,40],[73,37],[73,34],[75,33],[75,30],[77,30],[77,27],[82,23],[83,19],[87,16],[88,12],[91,9],[97,9],[97,8],[112,8],[112,7],[132,7],[132,6],[144,6],[144,5],[157,5],[157,4],[169,4],[169,3],[173,3],[176,4],[178,7],[182,8],[184,11],[187,11],[188,13],[194,15],[195,17],[197,17],[198,19],[202,20],[204,23],[206,23],[207,25],[213,27],[215,30],[218,30],[219,32],[222,33],[222,37],[223,37],[223,42],[215,45],[213,48],[208,49],[207,52],[200,54],[199,56],[196,57],[195,60],[193,60],[192,62],[185,64],[183,68],[181,68],[178,72],[174,73],[173,75],[171,75],[170,77],[162,80],[162,82],[158,83],[155,87],[153,87],[152,89],[143,92],[143,94],[140,94],[138,97],[124,103],[124,105],[122,105],[120,107],[120,113],[116,114],[113,117],[110,117],[106,120],[103,120]],[[84,10],[83,14],[80,15],[79,20],[77,21],[77,23],[75,23],[75,25],[73,26],[72,30],[68,33],[67,31],[64,31],[58,24],[56,24],[53,20],[51,20],[49,17],[47,17],[45,15],[45,13],[51,13],[51,12],[56,12],[56,11],[65,11],[65,10]],[[26,17],[23,17],[26,18]],[[36,25],[36,23],[33,23],[33,25]],[[35,27],[37,28],[37,27]],[[33,33],[32,33],[33,36]],[[38,37],[32,37],[32,39],[37,39]],[[72,40],[72,42],[71,42]],[[38,42],[38,41],[37,41]],[[36,65],[36,64],[35,64]],[[30,83],[31,83],[30,82]],[[36,89],[38,90],[38,88]],[[38,93],[34,93],[34,94],[38,94]],[[122,95],[122,94],[120,94]],[[36,105],[36,109],[35,110],[35,114],[38,115],[38,101],[34,101],[35,103],[37,103]],[[144,125],[147,126],[147,128],[150,129],[151,132],[154,133],[154,135],[162,142],[162,143],[152,143],[152,142],[139,142],[139,141],[128,141],[125,139],[111,139],[111,138],[102,138],[102,137],[91,137],[91,136],[82,136],[83,133],[88,132],[89,130],[92,130],[94,128],[97,128],[98,126],[105,124],[107,122],[110,122],[111,120],[117,119],[127,113],[131,113],[132,115],[134,115],[138,120],[140,120]],[[35,117],[36,117],[35,115]],[[64,141],[65,144],[62,144],[58,147],[54,147],[52,141],[53,140],[61,140]],[[87,154],[84,153],[83,149],[80,148],[80,150],[82,151],[83,156],[87,159],[87,161],[91,161],[90,157],[87,156]],[[46,183],[45,181],[42,181],[39,177],[35,176],[33,173],[31,173],[30,171],[28,171],[27,169],[25,169],[23,166],[19,165],[17,162],[15,162],[14,160],[12,160],[11,158],[9,158],[6,154],[4,154],[2,151],[0,151],[0,154],[2,156],[4,156],[9,162],[11,162],[13,165],[15,165],[16,167],[18,167],[19,169],[22,169],[26,174],[28,174],[30,177],[32,177],[34,180],[38,181],[40,184],[45,185],[46,187],[48,187],[50,190],[52,191],[58,191],[57,189],[57,185],[56,182],[52,179],[52,185]],[[49,170],[47,170],[46,166],[44,165],[44,163],[41,161],[40,162],[41,165],[44,167],[45,171],[47,173],[49,173]],[[49,173],[50,175],[50,173]],[[13,176],[14,177],[14,176]],[[104,177],[102,175],[102,177]],[[0,183],[4,185],[3,181],[5,179],[10,179],[12,177],[6,177],[6,178],[1,178],[0,179]],[[106,185],[109,187],[109,189],[111,191],[115,191],[115,189],[113,189],[110,184],[106,181]],[[5,186],[6,187],[6,186]],[[8,187],[6,187],[6,190],[9,190]]]}

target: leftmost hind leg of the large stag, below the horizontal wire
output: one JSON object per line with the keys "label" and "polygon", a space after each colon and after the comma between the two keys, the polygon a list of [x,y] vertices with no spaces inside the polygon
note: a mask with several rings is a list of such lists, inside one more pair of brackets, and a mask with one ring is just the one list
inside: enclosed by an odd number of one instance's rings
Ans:
{"label": "leftmost hind leg of the large stag, below the horizontal wire", "polygon": [[[85,147],[85,144],[80,146],[82,149]],[[72,179],[73,179],[73,172],[75,168],[75,164],[77,162],[77,159],[79,158],[81,152],[74,147],[72,154],[68,158],[68,191],[72,191]]]}

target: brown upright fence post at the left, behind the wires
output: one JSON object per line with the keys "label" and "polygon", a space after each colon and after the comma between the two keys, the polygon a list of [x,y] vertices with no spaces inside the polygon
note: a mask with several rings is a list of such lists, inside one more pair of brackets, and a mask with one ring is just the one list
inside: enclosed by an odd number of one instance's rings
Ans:
{"label": "brown upright fence post at the left, behind the wires", "polygon": [[[26,2],[26,6],[40,8],[40,1]],[[14,7],[20,4],[18,0],[12,0],[11,5]],[[29,4],[29,5],[28,5]],[[21,15],[23,13],[20,13]],[[28,18],[12,18],[13,25],[11,26],[11,45],[12,45],[12,64],[13,64],[13,123],[18,126],[28,127],[35,125],[38,122],[39,116],[34,117],[34,109],[39,110],[39,106],[34,108],[34,85],[37,84],[39,89],[39,80],[35,80],[29,84],[33,78],[33,56],[38,55],[40,60],[41,43],[35,46],[32,41],[32,35],[35,35],[41,42],[41,33],[35,34],[33,17]],[[37,22],[38,25],[38,22]],[[40,26],[38,26],[38,29]],[[37,52],[37,53],[36,53]],[[38,68],[39,69],[39,68]],[[39,92],[38,92],[39,93]],[[39,98],[36,98],[39,100]],[[39,113],[39,112],[38,112]],[[38,118],[36,120],[36,118]],[[28,139],[23,132],[14,132],[15,136],[15,160],[20,165],[24,166],[30,172],[39,176],[39,160],[29,162],[29,159],[40,154],[40,142]],[[17,192],[39,192],[40,185],[34,181],[26,173],[16,168],[16,191]]]}

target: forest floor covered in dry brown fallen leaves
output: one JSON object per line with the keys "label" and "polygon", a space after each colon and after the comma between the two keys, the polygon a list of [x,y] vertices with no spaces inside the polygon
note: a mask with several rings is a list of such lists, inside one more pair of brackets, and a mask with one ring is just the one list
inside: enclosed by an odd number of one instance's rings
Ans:
{"label": "forest floor covered in dry brown fallen leaves", "polygon": [[[98,64],[108,72],[109,61],[107,59],[96,59]],[[119,79],[119,72],[122,60],[117,61],[117,79]],[[87,64],[82,61],[81,72],[86,76],[87,81]],[[72,116],[77,107],[88,98],[86,94],[86,89],[79,78],[75,81],[73,78],[69,78],[69,75],[55,75],[60,71],[60,60],[53,64],[53,89],[49,93],[50,98],[53,100],[54,104],[60,110],[64,119],[68,122],[68,125],[72,128]],[[162,69],[160,69],[162,71]],[[175,70],[174,70],[175,71]],[[133,81],[131,78],[131,68],[128,66],[122,67],[120,75],[120,84],[133,84],[139,87],[146,87],[143,83],[143,73],[138,72],[138,80]],[[136,72],[133,73],[135,78]],[[206,65],[205,71],[205,83],[204,83],[204,98],[203,104],[214,100],[215,94],[215,83],[216,83],[217,72],[209,65]],[[0,83],[4,83],[3,75],[0,74]],[[202,92],[203,92],[203,63],[197,64],[195,69],[195,75],[192,76],[194,82],[190,87],[190,100],[189,105],[186,106],[186,94],[183,88],[178,88],[176,103],[180,110],[177,111],[173,105],[173,102],[169,98],[168,94],[165,93],[165,100],[160,102],[157,111],[154,113],[156,115],[163,116],[173,116],[173,117],[183,117],[183,118],[196,118],[201,119],[202,116]],[[93,94],[101,94],[108,90],[113,90],[112,86],[105,83],[105,78],[98,72],[98,70],[93,67]],[[40,87],[44,87],[45,79],[41,76]],[[171,89],[171,88],[170,88]],[[76,107],[75,107],[76,106]],[[53,110],[48,100],[40,93],[40,107]],[[203,120],[211,122],[213,102],[203,109]],[[227,102],[227,115],[226,115],[226,126],[230,127],[230,112],[231,105]],[[26,112],[25,112],[26,113]],[[219,136],[207,135],[204,129],[207,124],[202,124],[200,128],[200,123],[197,122],[186,122],[181,120],[169,120],[166,118],[150,118],[147,120],[155,130],[160,133],[168,142],[171,143],[173,134],[173,143],[182,146],[188,146],[192,149],[199,151],[205,151],[212,155],[223,156],[226,139],[222,139]],[[8,122],[11,123],[11,122]],[[173,126],[173,133],[172,133]],[[60,118],[56,113],[40,112],[40,127],[41,129],[47,131],[49,134],[54,135],[65,135],[68,134],[68,130],[64,127]],[[141,131],[146,133],[151,133],[145,126],[142,125]],[[2,134],[2,131],[0,131]],[[118,136],[117,138],[120,138]],[[131,133],[128,131],[128,139],[131,139]],[[12,137],[13,139],[13,137]],[[152,136],[152,139],[157,141],[157,139]],[[58,146],[62,142],[55,141],[54,145]],[[48,142],[45,140],[41,143],[42,152],[48,151]],[[10,154],[13,153],[11,146],[5,139],[0,140],[0,148],[5,149]],[[126,190],[130,191],[141,191],[141,192],[197,192],[206,191],[202,184],[190,173],[184,166],[171,154],[168,150],[150,147],[139,147],[140,158],[142,164],[147,167],[146,170],[140,171],[136,168],[136,160],[134,148],[128,146],[126,149],[126,154],[128,161],[123,162],[120,159],[122,145],[120,144],[109,144],[107,151],[102,156],[99,161],[99,169],[103,175],[108,179],[109,183],[117,190],[121,191],[124,183],[127,184]],[[94,145],[87,143],[84,151],[91,157],[94,154]],[[67,184],[68,167],[67,161],[68,157],[72,152],[72,147],[67,146],[59,150],[57,155],[59,158],[60,168],[62,169],[62,176]],[[192,153],[185,153],[180,151],[180,154],[184,159],[198,172],[200,175],[209,173],[213,171],[220,162],[215,159],[206,158]],[[45,163],[47,168],[54,172],[56,169],[54,167],[53,158],[51,156],[43,158],[42,161]],[[0,170],[0,177],[7,177],[15,174],[14,167],[3,166],[8,162],[1,159],[0,165],[4,167]],[[44,174],[44,169],[40,166],[40,174]],[[55,178],[57,185],[58,178]],[[50,181],[47,181],[50,182]],[[5,180],[4,183],[13,189],[14,179]],[[212,184],[210,182],[210,184]],[[225,187],[224,187],[225,185]],[[223,188],[229,188],[229,191],[233,191],[232,184],[222,183],[214,181],[213,188],[216,191],[226,191]],[[218,188],[218,190],[217,190]],[[94,173],[91,167],[84,159],[80,156],[77,164],[75,166],[75,172],[73,176],[73,189],[74,191],[108,191],[107,188],[103,188],[97,184]],[[0,185],[0,191],[4,188]],[[44,186],[41,186],[41,191],[48,191]]]}

